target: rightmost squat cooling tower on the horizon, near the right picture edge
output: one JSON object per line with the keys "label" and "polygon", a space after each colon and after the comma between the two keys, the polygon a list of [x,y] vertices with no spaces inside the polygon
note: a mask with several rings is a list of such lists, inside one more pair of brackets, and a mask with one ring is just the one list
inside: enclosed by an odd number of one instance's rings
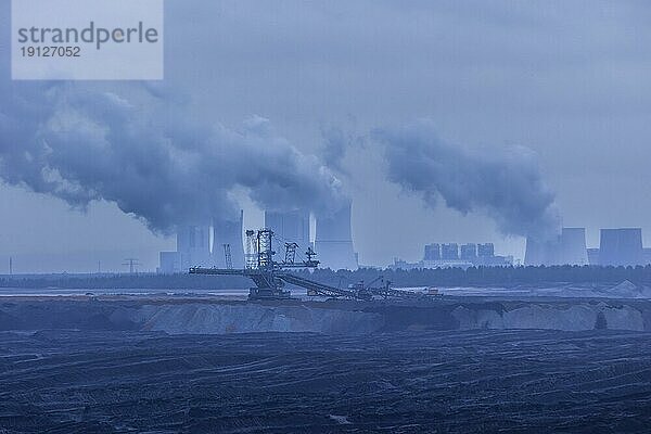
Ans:
{"label": "rightmost squat cooling tower on the horizon, near the right picture edge", "polygon": [[643,261],[640,228],[601,229],[599,264],[635,266]]}

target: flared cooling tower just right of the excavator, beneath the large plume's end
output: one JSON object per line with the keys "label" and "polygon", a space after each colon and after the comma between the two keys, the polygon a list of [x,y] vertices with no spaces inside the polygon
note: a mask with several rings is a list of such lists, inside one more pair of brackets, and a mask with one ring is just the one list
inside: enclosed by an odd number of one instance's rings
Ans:
{"label": "flared cooling tower just right of the excavator, beneath the large plume's end", "polygon": [[333,270],[357,269],[357,259],[350,234],[350,207],[348,202],[330,216],[317,218],[315,250],[322,267]]}

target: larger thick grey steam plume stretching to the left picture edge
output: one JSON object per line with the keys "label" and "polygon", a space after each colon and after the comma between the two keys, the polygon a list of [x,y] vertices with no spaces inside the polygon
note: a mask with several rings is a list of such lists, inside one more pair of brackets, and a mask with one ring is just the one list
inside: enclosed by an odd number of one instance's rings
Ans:
{"label": "larger thick grey steam plume stretching to the left picture edge", "polygon": [[[341,186],[269,122],[201,123],[162,89],[115,93],[76,84],[0,86],[0,176],[74,207],[110,201],[154,231],[231,219],[242,189],[259,206],[323,210]],[[125,97],[125,95],[128,95]]]}

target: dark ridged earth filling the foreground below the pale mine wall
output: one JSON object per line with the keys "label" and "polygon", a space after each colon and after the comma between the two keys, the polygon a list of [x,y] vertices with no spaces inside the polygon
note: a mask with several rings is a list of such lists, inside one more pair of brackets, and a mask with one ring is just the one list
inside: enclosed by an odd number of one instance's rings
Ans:
{"label": "dark ridged earth filling the foreground below the pale mine wall", "polygon": [[0,433],[650,426],[648,332],[0,333]]}

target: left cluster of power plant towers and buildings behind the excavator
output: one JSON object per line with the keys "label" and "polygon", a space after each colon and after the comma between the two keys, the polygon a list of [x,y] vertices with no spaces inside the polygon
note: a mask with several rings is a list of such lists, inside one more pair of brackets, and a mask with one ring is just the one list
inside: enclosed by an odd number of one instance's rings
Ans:
{"label": "left cluster of power plant towers and buildings behind the excavator", "polygon": [[[352,203],[333,214],[316,217],[315,243],[310,240],[309,210],[265,212],[265,228],[275,232],[277,246],[298,244],[298,254],[308,247],[317,251],[322,268],[357,269],[357,253],[350,230]],[[215,219],[202,226],[177,228],[176,252],[161,252],[161,273],[187,271],[190,267],[243,268],[243,212],[237,221]],[[279,251],[280,252],[280,251]]]}

